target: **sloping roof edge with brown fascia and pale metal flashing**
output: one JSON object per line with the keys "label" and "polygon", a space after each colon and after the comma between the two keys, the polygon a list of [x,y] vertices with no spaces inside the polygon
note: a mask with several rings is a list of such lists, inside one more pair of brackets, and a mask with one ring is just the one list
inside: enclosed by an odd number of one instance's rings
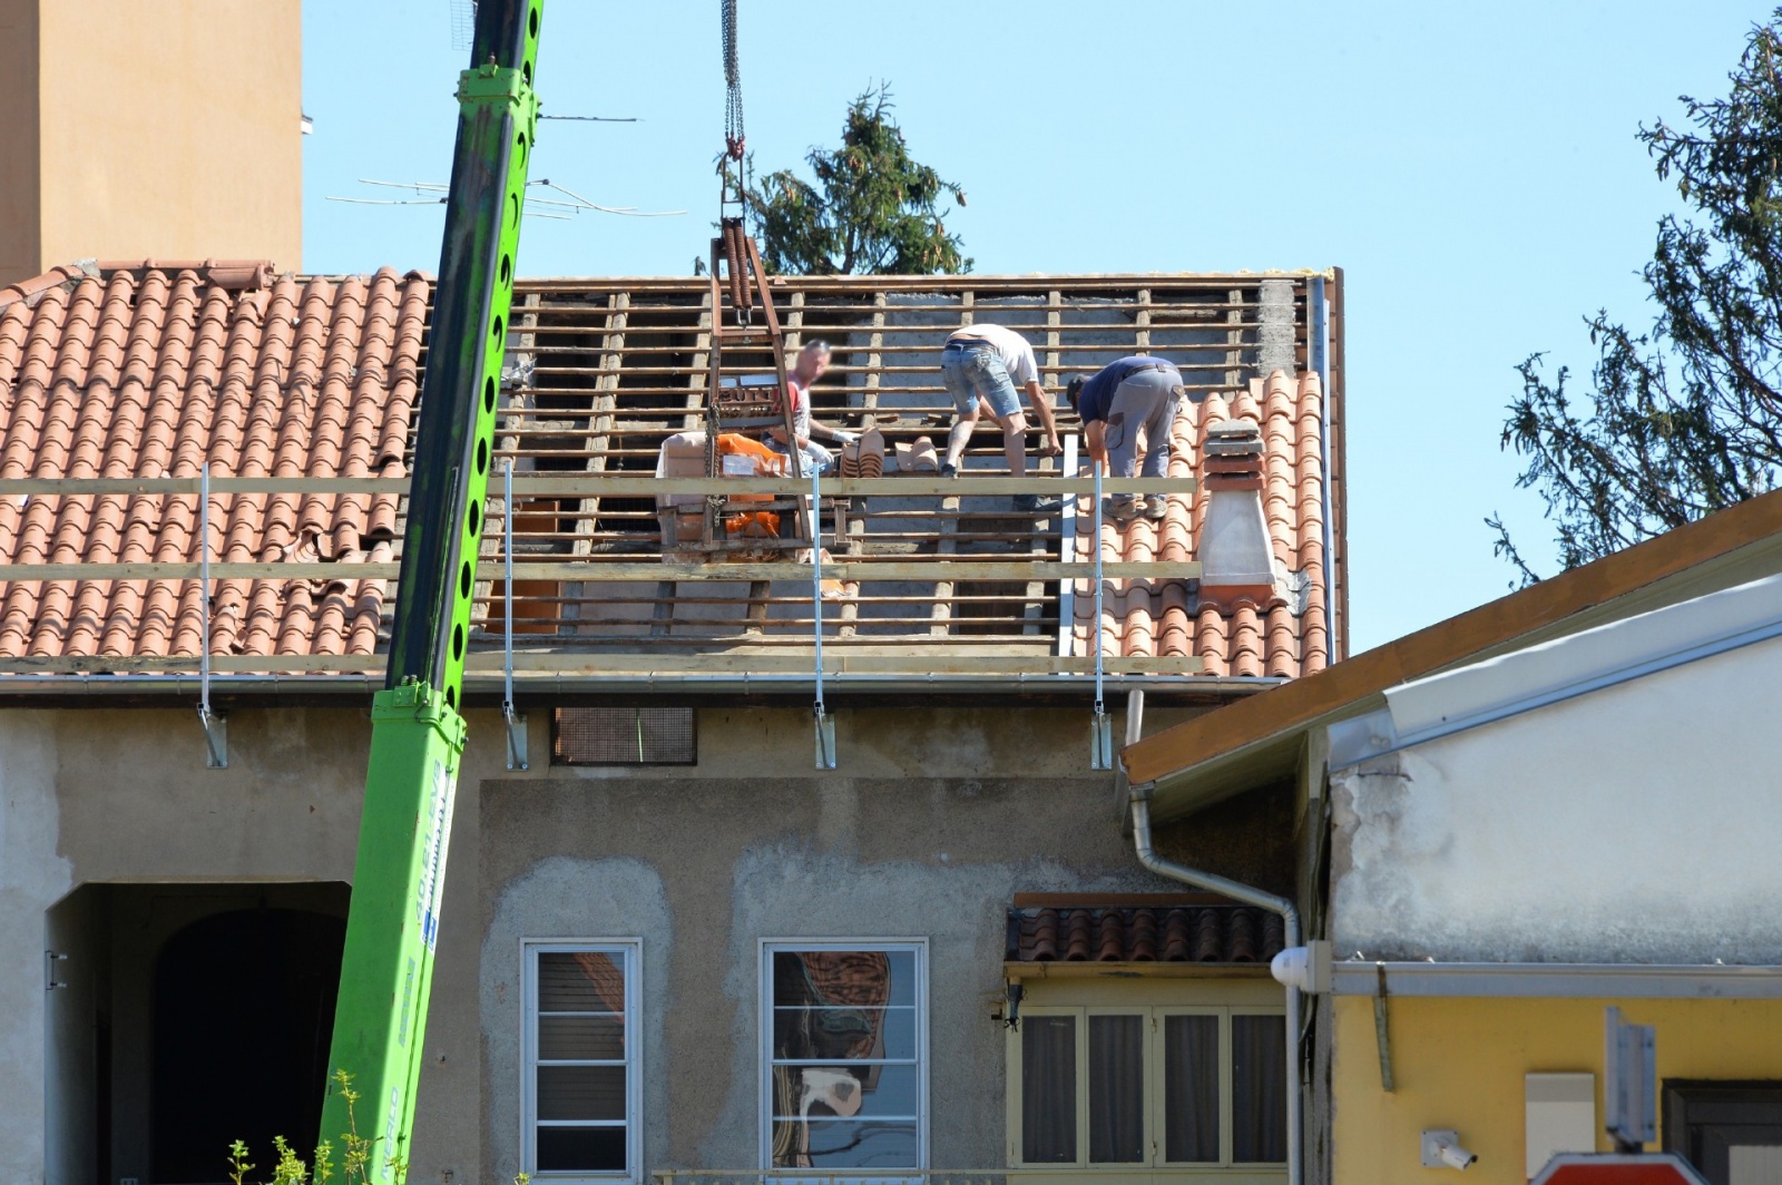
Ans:
{"label": "sloping roof edge with brown fascia and pale metal flashing", "polygon": [[[1353,764],[1354,745],[1369,747],[1363,757],[1402,747],[1410,716],[1401,720],[1397,709],[1394,736],[1385,747],[1370,741],[1381,722],[1367,716],[1386,709],[1390,695],[1406,713],[1426,697],[1418,720],[1443,715],[1435,688],[1470,688],[1484,713],[1527,709],[1540,704],[1515,695],[1504,702],[1502,688],[1493,700],[1486,682],[1543,684],[1543,702],[1556,702],[1607,686],[1593,679],[1625,681],[1647,674],[1643,665],[1675,665],[1771,636],[1764,606],[1782,606],[1782,586],[1771,579],[1782,581],[1782,490],[1146,736],[1121,750],[1121,766],[1135,786],[1153,788],[1160,821],[1181,818],[1290,775],[1308,738],[1326,729],[1340,750],[1333,764],[1338,757]],[[1734,606],[1737,617],[1716,617]],[[1670,615],[1673,608],[1680,613]],[[1634,624],[1657,613],[1664,617]],[[1597,633],[1620,625],[1632,633]],[[1634,645],[1636,634],[1645,643]],[[1468,682],[1443,682],[1447,675]],[[1344,722],[1353,723],[1333,727]]]}

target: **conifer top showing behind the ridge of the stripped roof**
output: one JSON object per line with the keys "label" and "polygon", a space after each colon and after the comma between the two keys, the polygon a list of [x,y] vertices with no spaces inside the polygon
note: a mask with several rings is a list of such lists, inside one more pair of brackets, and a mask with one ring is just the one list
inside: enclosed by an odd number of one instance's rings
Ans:
{"label": "conifer top showing behind the ridge of the stripped roof", "polygon": [[848,103],[841,146],[805,157],[816,184],[781,169],[748,187],[752,232],[768,271],[834,276],[971,271],[939,203],[966,192],[909,155],[879,86]]}

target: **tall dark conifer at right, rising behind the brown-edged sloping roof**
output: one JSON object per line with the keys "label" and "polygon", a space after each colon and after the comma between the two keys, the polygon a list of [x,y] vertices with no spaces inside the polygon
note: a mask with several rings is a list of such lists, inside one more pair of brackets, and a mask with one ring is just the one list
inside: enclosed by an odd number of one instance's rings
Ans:
{"label": "tall dark conifer at right, rising behind the brown-edged sloping roof", "polygon": [[[1525,458],[1554,524],[1559,563],[1577,567],[1777,485],[1782,463],[1782,9],[1752,29],[1725,98],[1682,96],[1686,125],[1639,139],[1689,207],[1659,221],[1645,285],[1655,305],[1638,333],[1606,310],[1586,319],[1597,362],[1574,401],[1570,372],[1541,355],[1502,447]],[[1540,579],[1497,519],[1497,554]]]}

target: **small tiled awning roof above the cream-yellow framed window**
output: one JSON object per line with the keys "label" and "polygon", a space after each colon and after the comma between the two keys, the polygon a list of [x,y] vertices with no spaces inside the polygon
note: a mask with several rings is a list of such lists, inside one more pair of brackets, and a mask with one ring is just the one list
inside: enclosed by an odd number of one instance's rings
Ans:
{"label": "small tiled awning roof above the cream-yellow framed window", "polygon": [[1262,962],[1281,918],[1251,905],[1041,905],[1009,911],[1009,962]]}

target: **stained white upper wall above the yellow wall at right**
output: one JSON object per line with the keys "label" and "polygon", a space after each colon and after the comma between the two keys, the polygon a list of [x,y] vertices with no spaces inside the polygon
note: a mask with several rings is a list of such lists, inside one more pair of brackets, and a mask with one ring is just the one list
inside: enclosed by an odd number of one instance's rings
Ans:
{"label": "stained white upper wall above the yellow wall at right", "polygon": [[1338,957],[1782,964],[1782,640],[1338,772]]}

